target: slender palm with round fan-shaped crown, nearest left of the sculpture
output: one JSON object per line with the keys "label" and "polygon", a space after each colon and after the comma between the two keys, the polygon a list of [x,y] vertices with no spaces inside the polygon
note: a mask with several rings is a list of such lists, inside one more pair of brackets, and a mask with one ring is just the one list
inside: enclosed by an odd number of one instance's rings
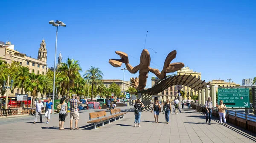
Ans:
{"label": "slender palm with round fan-shaped crown, nearest left of the sculpture", "polygon": [[98,67],[91,66],[89,70],[85,71],[84,79],[87,82],[87,84],[92,85],[91,101],[93,101],[93,87],[98,86],[102,83],[103,73],[99,70]]}

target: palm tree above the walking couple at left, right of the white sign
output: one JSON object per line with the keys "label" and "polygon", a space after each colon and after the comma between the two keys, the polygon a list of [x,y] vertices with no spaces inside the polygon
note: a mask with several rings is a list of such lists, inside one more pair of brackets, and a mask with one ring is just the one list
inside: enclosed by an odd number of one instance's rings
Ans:
{"label": "palm tree above the walking couple at left, right of the white sign", "polygon": [[35,107],[35,96],[38,92],[43,90],[43,77],[41,75],[35,75],[35,73],[29,74],[29,80],[27,80],[27,90],[31,92],[32,95],[32,107]]}

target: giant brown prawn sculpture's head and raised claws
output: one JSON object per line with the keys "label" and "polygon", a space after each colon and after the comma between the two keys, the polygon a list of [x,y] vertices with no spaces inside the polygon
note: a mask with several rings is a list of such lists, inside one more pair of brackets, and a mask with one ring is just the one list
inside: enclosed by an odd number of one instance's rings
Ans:
{"label": "giant brown prawn sculpture's head and raised claws", "polygon": [[144,90],[146,86],[148,72],[154,73],[159,79],[164,79],[166,77],[166,73],[173,73],[177,70],[180,70],[182,67],[184,67],[184,64],[181,62],[170,64],[172,60],[175,59],[176,57],[176,54],[177,54],[176,50],[173,50],[167,55],[166,60],[163,64],[163,70],[161,71],[161,73],[159,72],[158,69],[149,67],[151,58],[147,49],[142,50],[142,53],[140,55],[140,64],[135,67],[132,67],[131,64],[129,64],[128,55],[126,53],[121,51],[116,51],[116,54],[119,55],[121,59],[109,59],[109,63],[113,67],[121,67],[122,63],[124,63],[127,70],[130,73],[137,73],[138,70],[140,70],[138,79],[137,77],[135,79],[130,78],[131,85],[136,90],[139,90],[139,91]]}

